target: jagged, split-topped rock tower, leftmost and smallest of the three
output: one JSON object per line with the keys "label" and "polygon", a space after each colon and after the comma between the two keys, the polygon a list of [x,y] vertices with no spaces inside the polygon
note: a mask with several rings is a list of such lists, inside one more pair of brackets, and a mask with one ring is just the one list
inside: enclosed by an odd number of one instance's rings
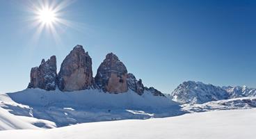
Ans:
{"label": "jagged, split-topped rock tower, leftmost and smallest of the three", "polygon": [[39,67],[33,67],[30,74],[28,88],[41,88],[44,90],[55,90],[57,85],[56,56],[42,62]]}

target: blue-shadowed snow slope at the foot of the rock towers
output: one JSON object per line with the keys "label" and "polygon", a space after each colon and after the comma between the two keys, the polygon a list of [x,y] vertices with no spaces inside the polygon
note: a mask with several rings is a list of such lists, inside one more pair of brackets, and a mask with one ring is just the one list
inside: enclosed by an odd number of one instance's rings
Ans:
{"label": "blue-shadowed snow slope at the foot of the rock towers", "polygon": [[1,94],[0,108],[6,112],[5,115],[10,115],[6,116],[7,119],[22,117],[23,122],[29,124],[19,127],[10,119],[10,126],[0,125],[0,130],[34,129],[36,126],[53,128],[84,122],[148,119],[185,113],[177,102],[166,97],[156,97],[151,92],[140,96],[131,90],[122,94],[109,94],[100,90],[61,92],[26,89]]}

